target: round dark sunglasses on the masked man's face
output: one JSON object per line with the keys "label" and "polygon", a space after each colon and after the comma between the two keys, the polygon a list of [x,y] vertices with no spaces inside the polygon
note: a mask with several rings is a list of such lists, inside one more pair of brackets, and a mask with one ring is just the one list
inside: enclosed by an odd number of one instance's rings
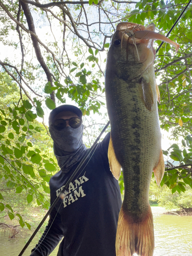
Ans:
{"label": "round dark sunglasses on the masked man's face", "polygon": [[72,128],[78,128],[81,123],[82,120],[78,117],[72,117],[70,119],[57,119],[54,121],[54,123],[52,123],[53,127],[57,130],[57,131],[61,131],[62,129],[64,129],[67,126],[67,122],[69,121],[69,125]]}

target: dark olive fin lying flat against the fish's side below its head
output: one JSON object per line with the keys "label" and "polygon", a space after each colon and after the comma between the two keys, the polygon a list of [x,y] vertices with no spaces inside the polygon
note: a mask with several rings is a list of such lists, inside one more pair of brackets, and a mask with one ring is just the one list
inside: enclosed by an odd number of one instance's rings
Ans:
{"label": "dark olive fin lying flat against the fish's side below its head", "polygon": [[143,89],[143,100],[147,110],[152,111],[152,106],[154,104],[154,95],[152,91],[152,86],[150,82],[147,82],[144,78],[141,79],[142,89]]}

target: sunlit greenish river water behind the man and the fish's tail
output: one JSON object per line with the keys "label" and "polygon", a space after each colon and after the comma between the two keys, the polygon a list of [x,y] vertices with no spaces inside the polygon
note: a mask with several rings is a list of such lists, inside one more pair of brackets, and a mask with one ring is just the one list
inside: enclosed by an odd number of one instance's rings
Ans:
{"label": "sunlit greenish river water behind the man and the fish's tail", "polygon": [[[163,215],[164,210],[160,207],[152,207],[152,211],[155,231],[154,256],[192,256],[192,217]],[[8,236],[9,234],[0,232],[1,256],[18,256],[28,238],[17,234],[15,239],[9,240]],[[24,256],[30,255],[36,242],[34,238]],[[56,256],[57,250],[58,248],[50,255]]]}

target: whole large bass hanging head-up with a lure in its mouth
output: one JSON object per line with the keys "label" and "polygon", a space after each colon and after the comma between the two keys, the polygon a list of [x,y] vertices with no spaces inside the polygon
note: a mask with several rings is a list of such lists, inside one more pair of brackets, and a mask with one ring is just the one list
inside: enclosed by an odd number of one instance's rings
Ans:
{"label": "whole large bass hanging head-up with a lure in its mouth", "polygon": [[155,39],[179,45],[135,23],[119,23],[112,37],[105,69],[106,107],[111,123],[110,169],[118,180],[121,168],[124,199],[116,233],[116,256],[152,256],[153,215],[148,194],[152,173],[158,185],[164,175],[154,72]]}

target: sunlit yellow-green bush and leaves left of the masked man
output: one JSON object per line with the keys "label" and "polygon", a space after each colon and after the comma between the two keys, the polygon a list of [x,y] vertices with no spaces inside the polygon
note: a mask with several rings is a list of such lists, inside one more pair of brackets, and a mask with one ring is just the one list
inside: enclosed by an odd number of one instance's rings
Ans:
{"label": "sunlit yellow-green bush and leaves left of the masked man", "polygon": [[[17,216],[22,227],[26,224],[30,228],[19,214],[18,204],[22,207],[25,199],[24,205],[33,201],[33,205],[48,208],[48,182],[58,167],[45,127],[35,120],[26,97],[19,100],[12,95],[19,95],[18,88],[5,73],[1,74],[0,91],[0,210],[5,210],[11,220]],[[14,194],[20,196],[12,200]]]}

